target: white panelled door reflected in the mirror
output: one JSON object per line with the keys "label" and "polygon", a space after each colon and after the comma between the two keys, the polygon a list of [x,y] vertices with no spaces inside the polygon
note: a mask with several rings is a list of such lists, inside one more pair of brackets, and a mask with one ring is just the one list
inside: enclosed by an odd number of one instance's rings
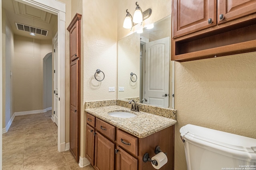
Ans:
{"label": "white panelled door reflected in the mirror", "polygon": [[145,91],[147,104],[169,107],[170,37],[146,43]]}

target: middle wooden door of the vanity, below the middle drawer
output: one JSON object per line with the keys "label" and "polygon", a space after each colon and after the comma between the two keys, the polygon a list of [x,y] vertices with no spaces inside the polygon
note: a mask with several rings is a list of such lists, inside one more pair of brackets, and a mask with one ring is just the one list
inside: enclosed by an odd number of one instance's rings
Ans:
{"label": "middle wooden door of the vanity, below the middle drawer", "polygon": [[95,166],[96,170],[114,170],[115,144],[99,133],[95,134]]}

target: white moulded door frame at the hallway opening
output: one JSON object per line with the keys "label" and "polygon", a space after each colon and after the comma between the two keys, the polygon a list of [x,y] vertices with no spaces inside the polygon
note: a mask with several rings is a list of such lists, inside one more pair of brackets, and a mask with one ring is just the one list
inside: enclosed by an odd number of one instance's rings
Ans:
{"label": "white moulded door frame at the hallway opening", "polygon": [[66,4],[57,0],[16,0],[58,16],[58,151],[66,149],[65,143],[65,21]]}

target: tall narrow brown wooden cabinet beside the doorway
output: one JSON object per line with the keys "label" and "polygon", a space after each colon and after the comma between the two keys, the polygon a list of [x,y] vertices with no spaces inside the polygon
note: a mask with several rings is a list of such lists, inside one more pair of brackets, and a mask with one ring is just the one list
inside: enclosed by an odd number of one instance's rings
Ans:
{"label": "tall narrow brown wooden cabinet beside the doorway", "polygon": [[80,70],[81,14],[76,14],[68,26],[70,32],[70,152],[80,156]]}

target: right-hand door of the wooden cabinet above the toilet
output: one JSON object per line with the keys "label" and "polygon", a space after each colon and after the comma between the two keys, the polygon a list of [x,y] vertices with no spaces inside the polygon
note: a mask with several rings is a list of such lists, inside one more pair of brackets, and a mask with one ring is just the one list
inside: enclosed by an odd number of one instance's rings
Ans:
{"label": "right-hand door of the wooden cabinet above the toilet", "polygon": [[[256,0],[218,0],[218,23],[256,12]],[[222,16],[223,15],[223,20]]]}

